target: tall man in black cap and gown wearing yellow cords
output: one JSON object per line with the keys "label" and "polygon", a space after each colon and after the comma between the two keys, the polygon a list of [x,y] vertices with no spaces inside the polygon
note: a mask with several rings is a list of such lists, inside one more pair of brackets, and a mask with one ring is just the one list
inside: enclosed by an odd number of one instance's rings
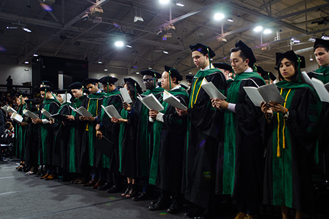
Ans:
{"label": "tall man in black cap and gown wearing yellow cords", "polygon": [[187,212],[186,216],[207,218],[213,216],[218,204],[215,178],[223,112],[212,107],[210,96],[201,88],[201,83],[203,79],[212,81],[216,88],[224,93],[226,78],[219,69],[212,68],[210,64],[210,58],[215,56],[212,49],[199,43],[191,45],[190,49],[195,66],[200,70],[193,79],[188,110],[176,109],[178,114],[188,115],[184,167],[186,179],[182,190],[188,201],[198,205],[193,211]]}

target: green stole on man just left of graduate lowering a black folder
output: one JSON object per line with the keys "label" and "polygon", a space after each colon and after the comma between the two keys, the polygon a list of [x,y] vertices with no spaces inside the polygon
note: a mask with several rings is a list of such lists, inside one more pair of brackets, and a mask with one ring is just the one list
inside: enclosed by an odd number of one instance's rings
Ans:
{"label": "green stole on man just left of graduate lowering a black folder", "polygon": [[[103,99],[104,93],[96,93],[96,94],[89,94],[88,95],[88,105],[87,109],[90,114],[93,116],[98,116],[98,101]],[[89,166],[94,166],[94,156],[95,156],[95,138],[96,138],[96,124],[95,123],[87,123],[86,131],[88,135],[88,151],[89,151]]]}

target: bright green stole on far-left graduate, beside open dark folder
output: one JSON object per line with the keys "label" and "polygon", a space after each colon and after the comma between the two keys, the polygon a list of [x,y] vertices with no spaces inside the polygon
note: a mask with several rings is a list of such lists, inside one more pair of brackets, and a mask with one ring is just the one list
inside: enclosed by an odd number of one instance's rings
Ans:
{"label": "bright green stole on far-left graduate, beside open dark folder", "polygon": [[[56,98],[54,99],[45,99],[43,101],[43,109],[47,110],[49,112],[50,110],[50,103],[53,103],[53,102],[58,102],[58,100]],[[41,109],[42,110],[42,109]],[[46,119],[47,116],[45,116],[44,114],[41,114],[41,119]],[[41,134],[41,147],[42,147],[42,161],[43,161],[43,164],[48,164],[48,157],[47,157],[47,153],[48,153],[48,126],[49,124],[43,124],[41,123],[40,124],[40,134]],[[39,164],[40,164],[40,156],[39,155]]]}

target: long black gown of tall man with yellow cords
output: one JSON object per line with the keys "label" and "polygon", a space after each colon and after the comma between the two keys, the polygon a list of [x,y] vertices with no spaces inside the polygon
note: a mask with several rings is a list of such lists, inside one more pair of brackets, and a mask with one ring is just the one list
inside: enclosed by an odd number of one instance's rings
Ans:
{"label": "long black gown of tall man with yellow cords", "polygon": [[[221,71],[210,73],[205,78],[212,81],[219,90],[226,89],[226,79]],[[215,194],[217,152],[221,140],[223,111],[212,107],[210,96],[203,89],[194,89],[196,82],[194,78],[189,100],[187,154],[182,193],[188,201],[208,208],[208,204],[212,204],[209,203],[210,196]]]}

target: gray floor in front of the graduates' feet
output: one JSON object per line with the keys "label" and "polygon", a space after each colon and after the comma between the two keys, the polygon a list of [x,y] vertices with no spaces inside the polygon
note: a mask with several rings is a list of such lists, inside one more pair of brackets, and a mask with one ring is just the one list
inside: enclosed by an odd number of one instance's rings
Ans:
{"label": "gray floor in front of the graduates' feet", "polygon": [[[45,181],[37,175],[25,175],[16,170],[18,163],[0,161],[0,219],[7,218],[184,218],[185,209],[179,214],[165,210],[149,211],[150,201],[132,201],[120,193],[84,188],[70,182]],[[236,208],[223,200],[216,219],[234,218]],[[259,219],[280,218],[280,209],[269,207]],[[305,216],[304,218],[310,218]],[[318,218],[324,218],[319,215]]]}

